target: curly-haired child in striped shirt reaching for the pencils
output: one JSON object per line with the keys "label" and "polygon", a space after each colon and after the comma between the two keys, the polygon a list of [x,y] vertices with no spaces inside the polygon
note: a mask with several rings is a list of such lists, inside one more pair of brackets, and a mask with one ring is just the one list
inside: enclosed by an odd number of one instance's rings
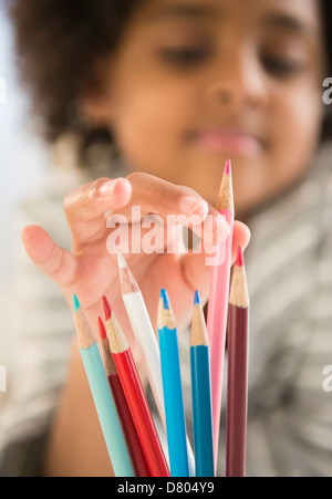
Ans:
{"label": "curly-haired child in striped shirt reaching for the pencils", "polygon": [[[329,1],[25,3],[13,6],[18,48],[48,137],[74,132],[85,152],[107,137],[122,167],[121,177],[110,170],[65,196],[71,250],[44,230],[49,220],[42,228],[34,217],[22,232],[29,257],[69,304],[73,292],[80,297],[91,324],[105,294],[127,329],[116,258],[106,250],[105,211],[129,218],[131,207],[139,206],[142,216],[196,214],[203,221],[209,214],[217,220],[214,206],[230,157],[236,216],[247,223],[236,222],[234,251],[247,247],[248,227],[252,233],[246,252],[248,475],[328,475],[332,403],[322,370],[332,358],[331,175],[317,153],[328,123]],[[221,231],[225,237],[227,227]],[[186,350],[195,289],[208,299],[205,257],[126,258],[153,321],[154,298],[162,287],[168,290]],[[42,472],[107,475],[75,342],[63,383]],[[224,449],[221,432],[219,472]]]}

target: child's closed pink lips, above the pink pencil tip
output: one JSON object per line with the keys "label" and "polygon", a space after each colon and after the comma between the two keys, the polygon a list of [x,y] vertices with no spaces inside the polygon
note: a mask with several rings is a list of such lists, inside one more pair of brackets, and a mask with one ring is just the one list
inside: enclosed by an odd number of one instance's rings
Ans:
{"label": "child's closed pink lips, above the pink pencil tip", "polygon": [[241,131],[203,131],[194,134],[195,142],[207,149],[222,153],[255,155],[263,144],[256,135]]}

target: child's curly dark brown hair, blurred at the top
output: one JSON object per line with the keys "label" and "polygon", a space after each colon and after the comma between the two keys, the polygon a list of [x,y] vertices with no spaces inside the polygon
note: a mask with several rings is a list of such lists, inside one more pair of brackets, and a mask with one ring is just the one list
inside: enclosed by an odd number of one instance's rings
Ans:
{"label": "child's curly dark brown hair, blurred at the top", "polygon": [[[142,0],[11,0],[21,81],[30,90],[42,132],[53,142],[73,132],[82,150],[96,142],[112,142],[106,129],[77,119],[76,101],[96,60],[112,53],[125,24]],[[322,9],[328,69],[332,76],[332,1]],[[322,138],[332,137],[332,113],[326,110]]]}

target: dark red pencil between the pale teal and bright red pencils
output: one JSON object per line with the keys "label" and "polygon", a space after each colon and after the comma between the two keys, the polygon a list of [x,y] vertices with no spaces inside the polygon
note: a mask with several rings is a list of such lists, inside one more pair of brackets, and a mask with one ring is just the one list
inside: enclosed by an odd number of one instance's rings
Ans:
{"label": "dark red pencil between the pale teal and bright red pencils", "polygon": [[123,392],[123,387],[116,371],[116,366],[112,357],[107,333],[101,318],[98,318],[98,330],[101,337],[102,358],[104,361],[110,388],[112,391],[113,398],[117,408],[117,414],[120,415],[127,447],[132,456],[132,461],[136,477],[149,477],[149,470],[146,464],[146,459],[142,449],[142,445],[133,422],[133,417],[125,394]]}

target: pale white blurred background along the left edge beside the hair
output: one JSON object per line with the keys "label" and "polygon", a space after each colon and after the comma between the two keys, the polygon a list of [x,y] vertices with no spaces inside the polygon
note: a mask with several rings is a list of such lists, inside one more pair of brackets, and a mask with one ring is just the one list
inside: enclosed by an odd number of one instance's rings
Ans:
{"label": "pale white blurred background along the left edge beside the hair", "polygon": [[[10,382],[14,351],[11,289],[15,256],[22,250],[17,211],[22,199],[44,181],[50,160],[49,150],[33,133],[29,102],[18,83],[9,3],[0,0],[0,365]],[[4,397],[0,393],[0,405]]]}

